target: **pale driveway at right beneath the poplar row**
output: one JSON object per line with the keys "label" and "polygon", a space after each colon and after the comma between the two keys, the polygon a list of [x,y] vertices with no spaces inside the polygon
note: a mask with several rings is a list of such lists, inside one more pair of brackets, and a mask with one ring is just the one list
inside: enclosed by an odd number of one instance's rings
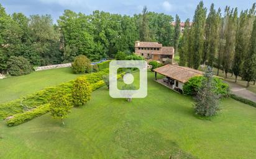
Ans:
{"label": "pale driveway at right beneath the poplar row", "polygon": [[242,87],[238,84],[227,82],[227,81],[225,82],[229,84],[229,87],[231,88],[231,92],[234,93],[235,95],[256,102],[256,94],[254,92],[250,92],[245,87]]}

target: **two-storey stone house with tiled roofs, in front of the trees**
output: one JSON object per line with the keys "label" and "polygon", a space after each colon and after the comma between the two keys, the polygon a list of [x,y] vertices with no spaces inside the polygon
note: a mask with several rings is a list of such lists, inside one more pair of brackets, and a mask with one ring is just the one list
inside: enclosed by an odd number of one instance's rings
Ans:
{"label": "two-storey stone house with tiled roofs, in front of the trees", "polygon": [[153,59],[164,62],[168,58],[173,60],[174,48],[162,46],[157,42],[135,41],[135,54],[143,56],[145,59]]}

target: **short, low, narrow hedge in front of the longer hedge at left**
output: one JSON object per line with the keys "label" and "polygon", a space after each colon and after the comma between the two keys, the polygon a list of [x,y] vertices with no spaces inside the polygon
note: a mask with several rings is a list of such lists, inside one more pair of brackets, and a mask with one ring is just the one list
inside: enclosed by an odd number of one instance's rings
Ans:
{"label": "short, low, narrow hedge in front of the longer hedge at left", "polygon": [[8,119],[6,123],[7,123],[7,126],[17,126],[37,116],[41,116],[42,114],[45,114],[48,111],[50,111],[49,104],[40,105],[37,108],[34,108],[33,110],[25,111],[24,113],[15,114],[14,116],[12,116],[11,119]]}

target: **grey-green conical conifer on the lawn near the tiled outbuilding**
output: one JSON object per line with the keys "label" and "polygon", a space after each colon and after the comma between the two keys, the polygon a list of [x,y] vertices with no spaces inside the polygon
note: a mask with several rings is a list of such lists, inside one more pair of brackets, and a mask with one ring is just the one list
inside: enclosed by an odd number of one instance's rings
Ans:
{"label": "grey-green conical conifer on the lawn near the tiled outbuilding", "polygon": [[214,93],[213,69],[208,66],[196,95],[194,113],[201,116],[213,116],[219,110],[218,103],[219,97]]}

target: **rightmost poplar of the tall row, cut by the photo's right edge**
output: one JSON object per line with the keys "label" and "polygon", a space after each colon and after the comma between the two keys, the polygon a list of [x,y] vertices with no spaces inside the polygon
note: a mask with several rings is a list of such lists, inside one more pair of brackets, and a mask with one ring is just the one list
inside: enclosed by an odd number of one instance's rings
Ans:
{"label": "rightmost poplar of the tall row, cut by the photo's right edge", "polygon": [[249,87],[250,81],[255,78],[256,69],[256,20],[254,20],[254,27],[252,30],[249,51],[245,55],[245,62],[242,68],[242,78],[247,81]]}

